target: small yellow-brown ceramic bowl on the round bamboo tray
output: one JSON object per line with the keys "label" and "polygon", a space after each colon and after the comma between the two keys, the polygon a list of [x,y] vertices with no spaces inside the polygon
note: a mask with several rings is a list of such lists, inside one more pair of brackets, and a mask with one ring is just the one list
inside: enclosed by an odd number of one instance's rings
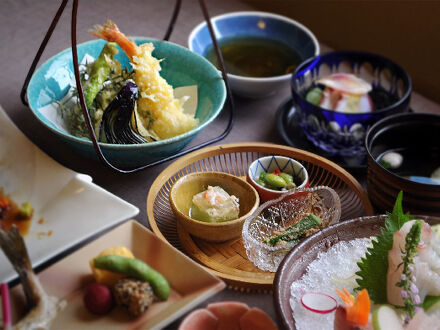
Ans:
{"label": "small yellow-brown ceramic bowl on the round bamboo tray", "polygon": [[[189,211],[194,195],[209,186],[220,186],[239,199],[239,218],[219,223],[192,219]],[[177,180],[170,191],[170,203],[177,221],[191,235],[211,242],[224,242],[241,237],[243,223],[259,206],[257,191],[244,179],[222,172],[191,173]]]}

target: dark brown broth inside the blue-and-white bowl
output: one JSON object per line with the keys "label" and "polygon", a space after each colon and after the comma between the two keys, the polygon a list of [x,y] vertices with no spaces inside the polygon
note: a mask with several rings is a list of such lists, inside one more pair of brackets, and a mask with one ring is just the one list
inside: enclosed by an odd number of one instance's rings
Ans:
{"label": "dark brown broth inside the blue-and-white bowl", "polygon": [[[264,37],[225,38],[219,41],[226,72],[245,77],[275,77],[292,73],[301,56],[282,42]],[[215,49],[206,58],[219,68]]]}

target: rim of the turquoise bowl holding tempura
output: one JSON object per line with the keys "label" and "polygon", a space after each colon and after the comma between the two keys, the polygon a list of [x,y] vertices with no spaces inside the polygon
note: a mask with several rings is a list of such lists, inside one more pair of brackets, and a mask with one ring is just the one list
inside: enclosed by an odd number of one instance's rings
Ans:
{"label": "rim of the turquoise bowl holding tempura", "polygon": [[[160,39],[155,39],[155,38],[147,38],[147,37],[139,37],[139,36],[129,36],[130,40],[133,40],[135,42],[159,42],[159,43],[166,43],[171,45],[171,47],[175,47],[179,50],[183,50],[186,54],[188,54],[189,56],[197,56],[199,60],[203,61],[205,64],[208,64],[211,68],[212,68],[212,72],[214,74],[214,72],[217,74],[219,80],[221,81],[219,86],[221,86],[221,92],[222,92],[222,100],[220,101],[220,106],[218,107],[218,109],[216,109],[215,111],[212,111],[209,118],[206,120],[206,122],[204,122],[202,125],[198,125],[197,127],[193,128],[192,130],[174,136],[172,138],[168,138],[168,139],[164,139],[164,140],[159,140],[159,141],[154,141],[154,142],[148,142],[148,143],[141,143],[141,144],[113,144],[113,143],[105,143],[105,142],[99,142],[99,145],[106,148],[106,149],[138,149],[138,148],[154,148],[154,147],[159,147],[161,145],[168,145],[168,144],[172,144],[175,142],[179,142],[179,141],[183,141],[187,138],[192,137],[193,135],[199,133],[203,128],[205,128],[208,124],[210,124],[215,118],[217,118],[217,116],[220,114],[221,110],[224,107],[225,104],[225,100],[226,100],[226,85],[225,82],[222,78],[222,76],[220,75],[219,71],[215,68],[215,66],[209,62],[207,59],[205,59],[203,56],[200,56],[190,50],[188,50],[188,48],[183,47],[181,45],[178,45],[176,43],[173,42],[169,42],[169,41],[165,41],[165,40],[160,40]],[[82,42],[77,44],[77,46],[82,46],[82,45],[87,45],[87,44],[93,44],[93,43],[98,43],[102,40],[100,39],[96,39],[96,40],[89,40],[86,42]],[[29,93],[29,89],[32,85],[37,85],[33,83],[34,78],[36,77],[36,74],[42,70],[46,65],[49,65],[50,62],[52,62],[55,58],[57,58],[58,56],[67,53],[67,52],[71,52],[72,48],[66,48],[62,51],[60,51],[59,53],[55,54],[54,56],[50,57],[49,59],[47,59],[43,64],[40,65],[40,67],[34,72],[34,74],[32,75],[30,81],[29,81],[29,85],[28,85],[28,90],[26,92],[26,98],[28,98],[28,93]],[[87,145],[87,146],[91,146],[93,147],[93,143],[91,140],[86,139],[86,138],[80,138],[77,136],[74,136],[70,133],[67,132],[63,132],[57,128],[52,127],[51,125],[48,125],[44,120],[42,120],[40,118],[41,115],[38,115],[36,110],[38,109],[34,109],[31,106],[31,103],[29,102],[29,108],[31,109],[32,113],[34,114],[34,116],[45,126],[47,127],[49,130],[51,130],[52,132],[54,132],[57,135],[60,135],[68,140],[71,140],[73,142],[77,142],[83,145]]]}

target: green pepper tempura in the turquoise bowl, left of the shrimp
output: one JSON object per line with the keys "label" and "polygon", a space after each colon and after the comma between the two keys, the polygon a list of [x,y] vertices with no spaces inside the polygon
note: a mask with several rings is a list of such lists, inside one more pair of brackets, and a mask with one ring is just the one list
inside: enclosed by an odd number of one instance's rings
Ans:
{"label": "green pepper tempura in the turquoise bowl, left of the shrimp", "polygon": [[108,75],[112,69],[113,57],[118,53],[116,43],[108,42],[99,54],[99,57],[93,62],[90,77],[84,88],[84,98],[86,100],[87,108],[93,104],[93,100],[99,91],[102,89],[104,81],[107,80]]}

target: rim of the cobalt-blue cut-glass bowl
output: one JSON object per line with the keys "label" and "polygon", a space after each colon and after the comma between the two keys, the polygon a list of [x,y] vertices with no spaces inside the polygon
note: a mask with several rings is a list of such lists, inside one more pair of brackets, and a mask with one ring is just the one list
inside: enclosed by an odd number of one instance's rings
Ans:
{"label": "rim of the cobalt-blue cut-glass bowl", "polygon": [[[390,64],[391,66],[394,66],[397,68],[398,71],[400,71],[402,73],[402,77],[404,80],[406,80],[406,82],[408,83],[408,90],[405,92],[405,94],[394,104],[385,107],[383,109],[380,110],[374,110],[372,111],[370,114],[384,114],[388,111],[392,111],[395,110],[397,107],[399,107],[400,105],[402,105],[403,103],[405,103],[411,93],[412,93],[412,79],[410,77],[410,75],[408,74],[408,72],[406,72],[405,69],[403,69],[402,66],[400,66],[399,64],[397,64],[396,62],[390,60],[389,58],[379,55],[379,54],[374,54],[374,53],[370,53],[370,52],[363,52],[363,51],[354,51],[354,50],[338,50],[338,51],[333,51],[333,52],[329,52],[329,53],[325,53],[322,55],[317,55],[314,56],[312,58],[309,58],[308,60],[305,60],[304,62],[302,62],[297,68],[296,70],[293,72],[292,74],[292,80],[290,83],[291,86],[291,90],[292,90],[292,94],[293,94],[293,99],[300,99],[303,102],[307,102],[310,104],[310,106],[314,109],[314,110],[319,110],[322,111],[323,113],[327,113],[327,114],[331,114],[331,113],[340,113],[346,116],[357,116],[360,115],[362,113],[347,113],[347,112],[342,112],[342,111],[334,111],[334,110],[328,110],[328,109],[324,109],[321,108],[317,105],[314,105],[310,102],[308,102],[302,95],[301,93],[299,93],[296,88],[295,88],[295,80],[299,77],[304,75],[307,71],[309,71],[310,67],[313,67],[315,63],[317,63],[318,61],[322,60],[325,63],[325,58],[326,57],[331,57],[331,56],[345,56],[347,58],[350,58],[350,56],[370,56],[373,58],[377,58],[380,59],[381,61],[384,61],[385,63]],[[295,102],[297,103],[297,102]]]}

